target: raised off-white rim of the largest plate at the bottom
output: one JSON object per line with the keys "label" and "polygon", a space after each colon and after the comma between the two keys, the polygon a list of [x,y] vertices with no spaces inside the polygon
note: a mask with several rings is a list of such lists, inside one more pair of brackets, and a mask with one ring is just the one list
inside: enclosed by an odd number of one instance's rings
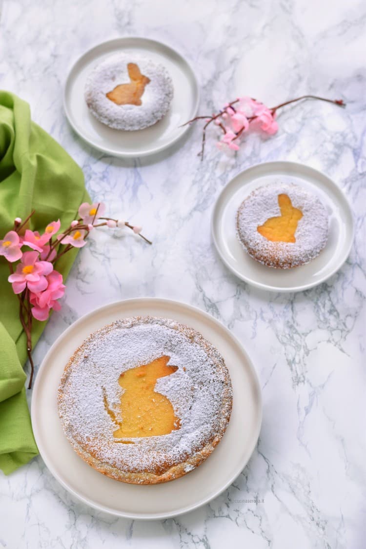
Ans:
{"label": "raised off-white rim of the largest plate at the bottom", "polygon": [[[161,302],[162,304],[167,304],[167,305],[171,305],[171,306],[178,306],[178,307],[183,306],[183,307],[185,307],[185,309],[191,310],[196,314],[202,315],[202,317],[204,317],[204,318],[205,317],[209,318],[209,320],[211,322],[213,322],[214,324],[216,324],[216,326],[219,329],[222,329],[223,332],[225,332],[229,336],[229,338],[233,339],[234,343],[238,346],[240,352],[244,355],[245,360],[247,362],[247,367],[250,370],[252,380],[253,380],[253,383],[255,385],[255,391],[256,391],[256,395],[257,395],[257,424],[256,424],[255,433],[254,433],[253,438],[251,440],[251,444],[249,445],[249,450],[247,451],[247,460],[245,461],[245,463],[241,463],[240,468],[235,470],[235,473],[230,477],[230,479],[228,481],[226,481],[226,483],[223,486],[221,486],[221,488],[219,488],[214,494],[210,495],[209,497],[205,498],[204,500],[201,500],[198,503],[195,503],[194,505],[190,505],[188,507],[182,508],[178,512],[174,511],[174,512],[171,512],[171,513],[160,513],[160,514],[157,513],[157,514],[154,514],[154,515],[151,514],[151,513],[149,513],[149,514],[136,514],[136,513],[116,512],[115,510],[106,508],[103,505],[98,505],[94,501],[89,500],[87,497],[81,496],[80,494],[78,494],[78,492],[76,490],[72,489],[69,485],[67,485],[67,483],[65,483],[64,480],[62,478],[60,478],[58,473],[54,470],[53,465],[48,460],[48,458],[44,458],[44,456],[42,455],[42,439],[41,439],[41,436],[38,432],[38,426],[37,426],[37,422],[36,422],[36,419],[35,419],[35,416],[36,416],[35,408],[36,407],[33,406],[33,401],[37,402],[37,393],[38,393],[38,390],[39,390],[38,388],[41,386],[42,372],[43,372],[43,369],[46,369],[46,367],[47,367],[48,357],[50,355],[52,355],[52,352],[54,351],[54,349],[58,345],[60,345],[63,342],[64,339],[67,338],[67,336],[69,335],[71,330],[75,330],[75,328],[77,328],[78,324],[81,324],[82,322],[87,321],[90,317],[92,317],[93,315],[95,315],[99,312],[103,312],[105,310],[108,310],[110,307],[115,307],[115,306],[123,307],[125,305],[128,307],[128,306],[131,306],[133,304],[133,302],[138,302],[139,304],[143,304],[144,301],[150,301],[150,302],[152,301],[152,302],[156,302],[156,303]],[[209,503],[210,501],[215,499],[217,496],[222,494],[222,492],[224,490],[226,490],[234,482],[234,480],[240,475],[240,473],[243,471],[243,469],[246,467],[247,463],[249,462],[249,460],[252,456],[252,453],[254,452],[255,446],[257,444],[259,435],[260,435],[260,430],[261,430],[261,425],[262,425],[262,418],[263,418],[262,391],[261,391],[261,386],[260,386],[258,374],[257,374],[256,369],[254,367],[253,361],[251,360],[251,358],[250,358],[249,354],[247,353],[247,351],[245,350],[244,346],[240,343],[239,339],[226,326],[224,326],[224,324],[222,324],[222,322],[218,321],[215,317],[213,317],[212,315],[210,315],[206,311],[202,311],[201,309],[199,309],[199,307],[196,307],[194,305],[189,305],[189,304],[181,302],[181,301],[176,301],[176,300],[166,299],[166,298],[143,297],[143,298],[131,298],[131,299],[125,299],[125,300],[112,301],[109,304],[103,305],[102,307],[98,307],[97,309],[94,309],[93,311],[90,311],[90,312],[86,313],[86,315],[83,315],[82,317],[78,318],[68,328],[66,328],[66,330],[63,333],[61,333],[59,335],[59,337],[57,338],[57,340],[55,340],[54,343],[50,346],[49,350],[47,351],[46,356],[44,356],[44,358],[42,360],[42,363],[41,363],[40,367],[38,368],[35,384],[33,385],[33,390],[32,390],[31,423],[32,423],[32,429],[33,429],[33,435],[35,437],[36,444],[37,444],[38,450],[40,452],[40,456],[42,457],[43,462],[46,464],[46,467],[48,468],[49,472],[61,484],[61,486],[63,486],[77,500],[82,501],[83,503],[85,503],[86,505],[88,505],[88,506],[90,506],[94,509],[97,509],[97,511],[101,511],[101,512],[104,512],[104,513],[111,514],[113,516],[123,517],[123,518],[128,518],[128,519],[161,520],[161,519],[166,519],[166,518],[177,517],[177,516],[182,515],[184,513],[194,511],[194,509],[198,509],[199,507],[202,507],[203,505],[206,505],[206,503]]]}

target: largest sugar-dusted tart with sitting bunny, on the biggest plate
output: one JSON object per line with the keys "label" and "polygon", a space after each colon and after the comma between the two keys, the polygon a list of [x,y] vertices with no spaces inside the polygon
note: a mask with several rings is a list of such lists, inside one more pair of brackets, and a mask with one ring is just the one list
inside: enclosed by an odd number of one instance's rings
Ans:
{"label": "largest sugar-dusted tart with sitting bunny, on the biggest plate", "polygon": [[92,333],[65,367],[58,411],[74,450],[132,484],[173,480],[221,440],[232,410],[224,360],[199,332],[131,317]]}

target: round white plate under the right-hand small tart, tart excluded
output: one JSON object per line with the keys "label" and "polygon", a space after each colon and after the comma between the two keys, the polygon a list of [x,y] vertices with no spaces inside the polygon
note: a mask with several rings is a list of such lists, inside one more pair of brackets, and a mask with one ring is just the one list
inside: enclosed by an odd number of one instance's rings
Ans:
{"label": "round white plate under the right-hand small tart, tart excluded", "polygon": [[[237,238],[236,215],[241,202],[254,189],[274,181],[301,185],[316,194],[328,211],[328,242],[307,265],[292,269],[266,267],[252,259]],[[219,194],[211,229],[224,264],[245,282],[272,292],[299,292],[334,275],[350,253],[354,231],[350,204],[336,183],[324,173],[295,162],[267,162],[239,173]]]}

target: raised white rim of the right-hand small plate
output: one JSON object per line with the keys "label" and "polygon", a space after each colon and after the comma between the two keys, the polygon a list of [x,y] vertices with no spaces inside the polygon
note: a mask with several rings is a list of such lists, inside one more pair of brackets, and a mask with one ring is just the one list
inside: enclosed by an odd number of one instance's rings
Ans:
{"label": "raised white rim of the right-hand small plate", "polygon": [[[221,247],[220,247],[220,245],[218,243],[218,240],[216,238],[216,223],[217,223],[217,217],[218,217],[218,209],[221,205],[220,204],[221,201],[223,200],[222,199],[223,194],[225,192],[227,192],[228,187],[231,184],[233,184],[233,182],[237,179],[237,177],[239,177],[243,173],[246,173],[246,172],[249,172],[249,171],[252,171],[252,170],[255,171],[259,167],[268,166],[268,168],[269,168],[269,167],[274,166],[274,165],[288,165],[288,166],[291,166],[291,167],[296,167],[297,169],[306,168],[306,170],[312,171],[314,173],[314,175],[324,177],[326,180],[328,180],[328,182],[331,184],[331,186],[333,186],[336,189],[336,192],[339,193],[339,195],[342,199],[342,203],[343,203],[345,209],[347,210],[347,214],[350,217],[350,219],[352,220],[351,237],[349,239],[348,247],[346,248],[345,253],[340,257],[340,261],[337,262],[337,264],[333,268],[333,270],[330,271],[329,273],[326,273],[326,275],[324,275],[318,281],[309,282],[308,284],[302,284],[302,285],[294,286],[294,287],[278,287],[278,286],[272,286],[272,285],[269,285],[269,284],[264,284],[264,283],[261,283],[261,282],[254,281],[252,278],[246,277],[241,271],[238,271],[237,269],[235,269],[235,267],[230,265],[229,261],[227,261],[226,257],[224,256],[223,251],[221,250]],[[247,182],[244,183],[243,186],[245,186],[245,184],[247,184]],[[250,284],[250,285],[252,285],[256,288],[260,288],[261,290],[268,290],[269,292],[279,292],[279,293],[303,292],[304,290],[308,290],[309,288],[313,288],[314,286],[322,284],[323,282],[328,280],[328,278],[333,276],[341,268],[341,266],[344,264],[344,262],[346,261],[348,255],[350,255],[350,251],[351,251],[352,245],[353,245],[353,240],[354,240],[354,217],[353,217],[353,212],[352,212],[350,202],[348,201],[348,198],[347,198],[345,192],[343,191],[343,189],[341,189],[339,186],[337,186],[337,184],[333,181],[333,179],[331,179],[324,172],[322,172],[320,170],[317,170],[316,168],[313,168],[312,166],[308,166],[307,164],[302,164],[300,162],[292,162],[292,161],[288,161],[288,160],[273,160],[273,161],[253,164],[253,165],[245,168],[245,170],[239,171],[232,178],[230,178],[230,181],[222,188],[221,192],[219,193],[219,195],[218,195],[218,197],[215,201],[215,206],[213,206],[212,216],[211,216],[211,236],[212,236],[213,243],[215,244],[216,251],[217,251],[218,255],[220,256],[220,258],[221,258],[222,262],[224,263],[224,265],[226,265],[227,268],[232,273],[234,273],[235,276],[237,276],[238,278],[240,278],[244,282],[247,282],[248,284]]]}

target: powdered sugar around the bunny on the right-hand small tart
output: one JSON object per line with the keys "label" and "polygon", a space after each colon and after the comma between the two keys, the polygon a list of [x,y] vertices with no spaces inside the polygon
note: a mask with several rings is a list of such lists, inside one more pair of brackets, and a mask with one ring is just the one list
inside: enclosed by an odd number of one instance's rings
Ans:
{"label": "powdered sugar around the bunny on the right-hand small tart", "polygon": [[[272,242],[257,227],[269,217],[280,215],[278,195],[287,194],[302,218],[295,232],[296,242]],[[295,184],[275,182],[260,187],[241,203],[237,214],[237,236],[249,255],[269,267],[290,268],[314,259],[328,239],[328,214],[313,194]]]}

